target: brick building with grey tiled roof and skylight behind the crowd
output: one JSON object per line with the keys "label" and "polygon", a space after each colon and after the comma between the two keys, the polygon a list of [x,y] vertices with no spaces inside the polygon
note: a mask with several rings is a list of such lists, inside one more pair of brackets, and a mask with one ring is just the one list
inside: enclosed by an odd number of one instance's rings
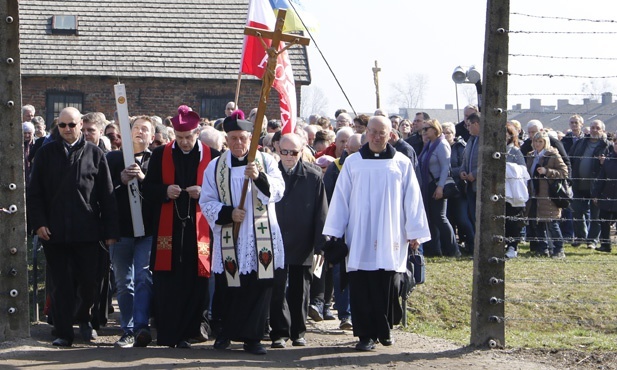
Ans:
{"label": "brick building with grey tiled roof and skylight behind the crowd", "polygon": [[[49,123],[65,106],[116,109],[126,85],[129,113],[174,115],[187,104],[222,117],[236,93],[248,0],[21,0],[22,97]],[[310,83],[306,48],[290,49],[298,111]],[[261,81],[242,78],[239,103],[257,106]],[[266,115],[280,118],[272,90]]]}

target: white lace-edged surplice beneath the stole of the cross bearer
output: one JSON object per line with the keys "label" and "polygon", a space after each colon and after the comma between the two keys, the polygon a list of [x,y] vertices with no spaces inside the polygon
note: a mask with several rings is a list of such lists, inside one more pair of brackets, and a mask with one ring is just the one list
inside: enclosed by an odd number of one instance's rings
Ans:
{"label": "white lace-edged surplice beneath the stole of the cross bearer", "polygon": [[[227,156],[227,164],[231,166],[231,151],[227,151],[221,155]],[[257,153],[257,158],[261,160],[261,153]],[[272,247],[274,251],[274,268],[283,268],[285,264],[285,252],[283,250],[283,238],[281,229],[279,228],[276,219],[276,211],[274,203],[281,200],[285,193],[285,181],[283,175],[278,168],[278,163],[269,154],[264,154],[266,176],[270,184],[270,197],[263,194],[252,181],[249,181],[248,191],[244,209],[246,215],[244,221],[240,224],[238,233],[237,258],[238,270],[240,274],[248,274],[252,271],[257,271],[257,253],[255,251],[255,233],[253,228],[253,191],[257,191],[257,197],[263,204],[268,205],[268,218],[270,219],[270,227],[272,232]],[[199,197],[199,206],[201,212],[206,216],[212,233],[214,236],[214,245],[212,253],[212,271],[217,274],[224,272],[223,258],[221,251],[221,225],[216,224],[219,212],[225,205],[221,202],[218,194],[218,188],[215,184],[215,171],[219,158],[210,162],[204,172],[203,184],[201,186],[201,196]],[[244,184],[244,171],[246,166],[231,167],[231,178],[229,184],[231,187],[231,198],[234,208],[240,204],[240,196],[242,194],[242,186]]]}

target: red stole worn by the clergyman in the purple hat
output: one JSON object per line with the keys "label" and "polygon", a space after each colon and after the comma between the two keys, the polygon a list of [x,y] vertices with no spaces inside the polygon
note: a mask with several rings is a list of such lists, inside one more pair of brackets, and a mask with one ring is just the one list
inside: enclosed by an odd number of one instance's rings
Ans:
{"label": "red stole worn by the clergyman in the purple hat", "polygon": [[[162,175],[163,184],[174,184],[176,169],[174,166],[172,149],[174,142],[165,145],[163,149]],[[203,173],[212,159],[212,154],[208,147],[204,147],[198,141],[200,161],[197,167],[196,184],[201,186],[203,183]],[[189,202],[191,200],[189,199]],[[208,221],[201,213],[199,202],[195,207],[195,230],[197,232],[197,274],[201,277],[209,277],[211,271],[210,260],[210,227]],[[159,229],[156,239],[156,258],[154,271],[171,271],[172,260],[172,234],[174,222],[174,202],[165,202],[161,206],[161,216],[159,218]]]}

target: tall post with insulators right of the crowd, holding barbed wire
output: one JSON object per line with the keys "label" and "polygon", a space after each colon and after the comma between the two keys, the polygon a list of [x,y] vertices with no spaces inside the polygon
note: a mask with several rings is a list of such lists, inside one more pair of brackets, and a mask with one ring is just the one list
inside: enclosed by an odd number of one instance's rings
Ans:
{"label": "tall post with insulators right of the crowd, holding barbed wire", "polygon": [[505,345],[506,106],[510,1],[488,1],[471,306],[471,344]]}

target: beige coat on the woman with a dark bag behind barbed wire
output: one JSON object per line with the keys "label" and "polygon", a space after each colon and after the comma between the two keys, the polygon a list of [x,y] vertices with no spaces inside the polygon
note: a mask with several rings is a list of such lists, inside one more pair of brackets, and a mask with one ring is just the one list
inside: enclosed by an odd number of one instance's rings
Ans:
{"label": "beige coat on the woman with a dark bag behind barbed wire", "polygon": [[[532,173],[531,166],[533,165],[533,160],[535,158],[535,152],[531,151],[527,156],[527,170],[529,171],[529,175],[531,176],[531,180],[529,180],[529,201],[527,202],[527,215],[529,217],[537,217],[540,219],[554,220],[556,218],[561,217],[561,208],[558,208],[550,199],[548,199],[548,182],[552,180],[547,179],[564,179],[568,177],[568,167],[564,163],[563,159],[557,152],[555,148],[548,148],[544,152],[544,158],[540,159],[539,167],[544,167],[543,164],[546,161],[546,158],[549,158],[548,163],[546,164],[546,176],[538,175],[538,173]],[[532,194],[532,181],[534,178],[539,183],[539,191],[537,194]],[[537,214],[532,215],[529,214],[531,201],[533,197],[538,197],[538,210]]]}

